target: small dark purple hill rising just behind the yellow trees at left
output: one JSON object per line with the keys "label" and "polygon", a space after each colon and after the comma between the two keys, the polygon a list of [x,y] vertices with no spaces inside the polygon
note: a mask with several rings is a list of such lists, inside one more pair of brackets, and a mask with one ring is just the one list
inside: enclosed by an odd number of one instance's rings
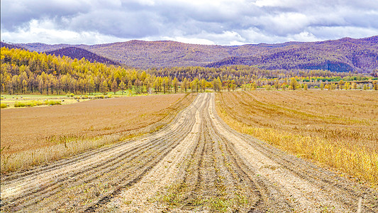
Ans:
{"label": "small dark purple hill rising just behind the yellow trees at left", "polygon": [[117,62],[113,62],[113,60],[109,60],[107,58],[104,58],[102,56],[96,55],[94,53],[89,52],[88,50],[84,50],[82,48],[75,48],[75,47],[68,47],[68,48],[61,48],[58,50],[52,50],[45,52],[48,55],[60,55],[60,56],[67,56],[70,58],[77,58],[78,60],[81,60],[82,58],[85,58],[89,60],[90,62],[101,62],[104,64],[109,65],[119,65]]}

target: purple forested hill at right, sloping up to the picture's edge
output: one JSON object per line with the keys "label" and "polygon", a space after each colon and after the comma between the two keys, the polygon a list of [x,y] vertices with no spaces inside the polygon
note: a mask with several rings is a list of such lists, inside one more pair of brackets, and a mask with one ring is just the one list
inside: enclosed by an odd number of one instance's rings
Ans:
{"label": "purple forested hill at right, sloping up to the picture's edge", "polygon": [[378,69],[378,36],[289,45],[259,55],[226,58],[207,66],[230,65],[257,65],[267,70],[372,71]]}

